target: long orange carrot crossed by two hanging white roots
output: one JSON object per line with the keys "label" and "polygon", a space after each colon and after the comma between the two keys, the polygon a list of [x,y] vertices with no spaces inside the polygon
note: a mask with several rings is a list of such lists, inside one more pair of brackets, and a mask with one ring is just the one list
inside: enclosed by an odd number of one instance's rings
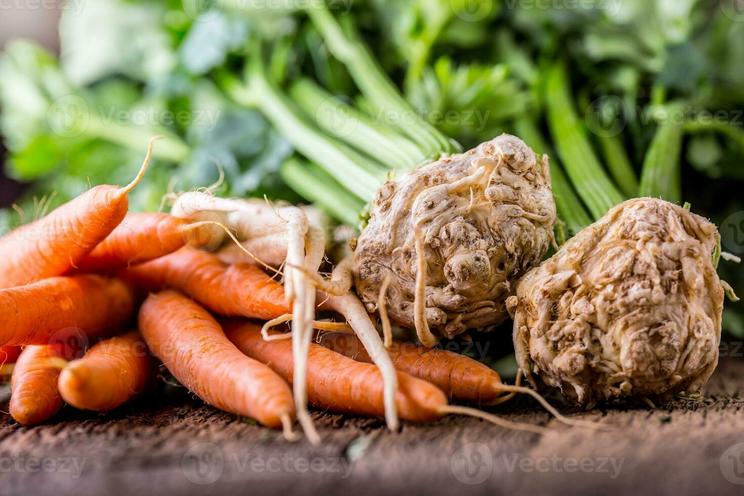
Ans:
{"label": "long orange carrot crossed by two hanging white roots", "polygon": [[[291,382],[292,342],[265,341],[261,327],[242,319],[224,323],[225,334],[240,351],[263,362]],[[400,418],[427,422],[442,416],[446,396],[434,384],[398,373],[396,403]],[[340,413],[384,416],[382,375],[377,367],[353,361],[318,344],[310,345],[307,357],[307,392],[310,403]]]}

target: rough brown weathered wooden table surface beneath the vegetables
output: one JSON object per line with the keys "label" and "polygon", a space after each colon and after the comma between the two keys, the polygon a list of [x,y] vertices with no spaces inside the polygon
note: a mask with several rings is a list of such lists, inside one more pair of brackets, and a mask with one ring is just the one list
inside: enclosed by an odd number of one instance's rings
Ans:
{"label": "rough brown weathered wooden table surface beneath the vegetables", "polygon": [[744,360],[726,358],[702,402],[581,414],[612,431],[567,427],[531,399],[497,410],[548,425],[542,437],[462,416],[391,433],[315,412],[317,447],[166,388],[109,413],[64,408],[33,428],[1,414],[0,494],[742,495],[743,384]]}

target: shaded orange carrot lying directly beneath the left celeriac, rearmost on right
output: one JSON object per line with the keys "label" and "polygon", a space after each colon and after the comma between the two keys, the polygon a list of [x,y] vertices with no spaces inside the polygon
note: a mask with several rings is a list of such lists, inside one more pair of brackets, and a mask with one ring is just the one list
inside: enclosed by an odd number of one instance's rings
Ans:
{"label": "shaded orange carrot lying directly beneath the left celeriac, rearmost on right", "polygon": [[[349,358],[372,363],[354,335],[327,332],[319,336],[318,343]],[[489,405],[505,393],[495,370],[459,353],[393,341],[388,355],[396,370],[436,384],[452,399]]]}

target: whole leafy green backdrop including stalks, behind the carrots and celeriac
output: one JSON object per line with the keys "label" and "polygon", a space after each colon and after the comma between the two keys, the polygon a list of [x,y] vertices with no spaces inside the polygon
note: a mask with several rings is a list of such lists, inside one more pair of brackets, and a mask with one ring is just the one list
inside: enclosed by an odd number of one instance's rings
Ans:
{"label": "whole leafy green backdrop including stalks, behind the carrots and celeriac", "polygon": [[[725,2],[327,0],[327,8],[316,7],[97,0],[62,12],[59,62],[33,43],[7,44],[0,133],[6,173],[32,181],[19,199],[24,220],[52,193],[50,207],[89,184],[128,182],[156,134],[167,139],[132,193],[135,209],[155,210],[170,188],[211,184],[217,161],[226,194],[315,200],[356,223],[358,196],[391,168],[457,149],[446,137],[469,148],[516,132],[536,151],[557,151],[554,192],[569,234],[638,194],[634,164],[645,164],[641,193],[684,199],[718,223],[744,210],[730,193],[744,181],[744,22]],[[262,93],[236,77],[259,54],[261,78],[286,100],[268,91],[263,96],[272,98],[257,101]],[[682,101],[682,123],[659,126],[658,109]],[[621,108],[617,126],[605,119],[617,117],[609,103]],[[269,122],[257,105],[292,112]],[[414,122],[391,122],[390,112]],[[339,115],[359,125],[328,126]],[[307,132],[324,143],[312,164],[292,157],[290,141],[301,148]],[[335,186],[328,171],[339,164],[347,175],[365,170],[358,195],[318,193]],[[20,220],[0,210],[0,227]],[[730,232],[735,224],[722,228],[724,248],[741,237]],[[743,271],[730,265],[722,261],[722,277],[744,292]],[[742,315],[742,303],[727,307],[725,329],[736,332]]]}

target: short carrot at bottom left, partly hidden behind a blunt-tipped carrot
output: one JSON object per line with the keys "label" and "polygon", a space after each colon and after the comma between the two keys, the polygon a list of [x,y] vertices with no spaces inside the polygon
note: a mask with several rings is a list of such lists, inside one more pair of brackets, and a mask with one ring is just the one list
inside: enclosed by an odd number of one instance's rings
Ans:
{"label": "short carrot at bottom left, partly hidden behind a blunt-tipped carrot", "polygon": [[10,415],[16,422],[38,424],[62,408],[57,390],[62,355],[60,346],[25,347],[10,380]]}

